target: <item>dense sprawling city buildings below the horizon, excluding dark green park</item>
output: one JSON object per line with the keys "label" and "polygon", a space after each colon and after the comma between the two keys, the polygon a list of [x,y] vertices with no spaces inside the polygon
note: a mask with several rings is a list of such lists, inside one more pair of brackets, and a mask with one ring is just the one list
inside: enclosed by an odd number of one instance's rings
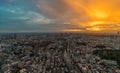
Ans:
{"label": "dense sprawling city buildings below the horizon, excluding dark green park", "polygon": [[120,73],[119,60],[94,54],[96,50],[120,53],[119,38],[80,33],[0,34],[0,73]]}

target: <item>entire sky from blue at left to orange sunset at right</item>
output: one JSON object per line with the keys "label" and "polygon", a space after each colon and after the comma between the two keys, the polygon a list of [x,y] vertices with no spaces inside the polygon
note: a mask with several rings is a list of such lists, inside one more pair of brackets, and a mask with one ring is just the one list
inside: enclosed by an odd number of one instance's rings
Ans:
{"label": "entire sky from blue at left to orange sunset at right", "polygon": [[120,0],[0,0],[0,32],[116,32]]}

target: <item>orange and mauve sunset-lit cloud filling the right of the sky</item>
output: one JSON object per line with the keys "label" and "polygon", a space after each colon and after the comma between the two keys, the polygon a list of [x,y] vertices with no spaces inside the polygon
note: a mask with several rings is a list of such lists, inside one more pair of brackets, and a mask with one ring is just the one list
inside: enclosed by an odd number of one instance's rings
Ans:
{"label": "orange and mauve sunset-lit cloud filling the right of the sky", "polygon": [[38,7],[48,15],[86,28],[80,31],[120,30],[120,0],[45,0],[42,5]]}

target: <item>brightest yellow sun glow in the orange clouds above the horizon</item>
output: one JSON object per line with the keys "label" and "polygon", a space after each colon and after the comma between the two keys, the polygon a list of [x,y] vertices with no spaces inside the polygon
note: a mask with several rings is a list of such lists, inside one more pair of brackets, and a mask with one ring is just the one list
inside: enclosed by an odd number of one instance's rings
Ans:
{"label": "brightest yellow sun glow in the orange clouds above the horizon", "polygon": [[88,22],[89,28],[87,28],[88,31],[94,31],[94,32],[101,32],[104,30],[102,26],[105,26],[109,22],[110,12],[107,9],[100,8],[100,7],[92,7],[90,8],[91,12],[89,12],[90,17],[92,18],[92,21]]}

